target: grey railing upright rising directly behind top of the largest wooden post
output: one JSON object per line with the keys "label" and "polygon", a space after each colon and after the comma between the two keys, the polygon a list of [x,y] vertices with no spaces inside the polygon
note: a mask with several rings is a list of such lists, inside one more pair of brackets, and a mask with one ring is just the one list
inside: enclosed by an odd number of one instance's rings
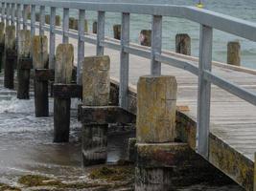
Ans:
{"label": "grey railing upright rising directly behind top of the largest wooden post", "polygon": [[155,54],[162,50],[162,16],[152,16],[151,30],[151,75],[160,75],[161,63],[155,60]]}

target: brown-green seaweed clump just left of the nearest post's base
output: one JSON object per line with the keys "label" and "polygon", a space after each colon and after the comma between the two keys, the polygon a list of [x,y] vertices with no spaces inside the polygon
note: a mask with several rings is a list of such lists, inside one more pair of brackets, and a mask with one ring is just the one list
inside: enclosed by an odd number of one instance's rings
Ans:
{"label": "brown-green seaweed clump just left of the nearest post's base", "polygon": [[116,180],[128,180],[134,176],[134,167],[133,166],[104,166],[98,169],[94,169],[89,178],[103,179],[108,181]]}

